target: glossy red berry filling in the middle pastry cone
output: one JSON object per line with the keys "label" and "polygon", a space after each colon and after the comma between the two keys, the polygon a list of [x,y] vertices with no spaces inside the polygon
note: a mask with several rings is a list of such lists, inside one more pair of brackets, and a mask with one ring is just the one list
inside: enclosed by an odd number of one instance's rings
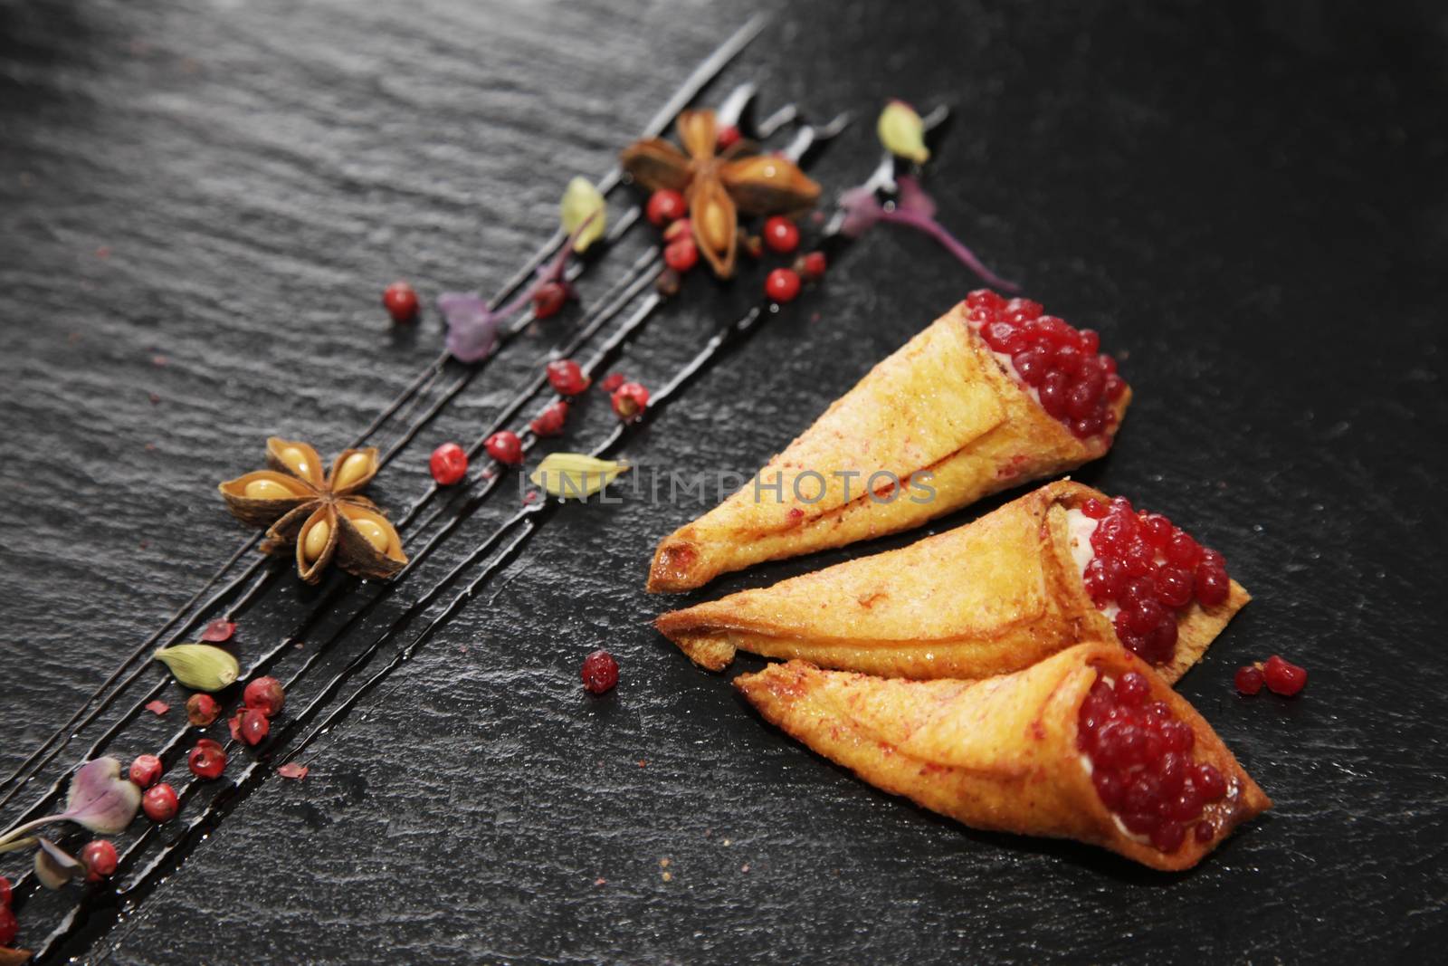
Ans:
{"label": "glossy red berry filling in the middle pastry cone", "polygon": [[[1171,660],[1180,611],[1193,600],[1202,607],[1226,600],[1226,560],[1160,513],[1134,510],[1125,497],[1087,500],[1080,514],[1095,520],[1082,571],[1086,592],[1112,618],[1122,644],[1153,665]],[[1086,558],[1080,539],[1073,532],[1077,560]]]}

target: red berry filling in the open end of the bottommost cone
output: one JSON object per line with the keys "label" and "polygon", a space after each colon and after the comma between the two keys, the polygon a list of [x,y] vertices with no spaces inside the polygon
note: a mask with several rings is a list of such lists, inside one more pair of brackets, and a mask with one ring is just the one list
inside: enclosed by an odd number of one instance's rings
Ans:
{"label": "red berry filling in the open end of the bottommost cone", "polygon": [[1203,812],[1226,797],[1226,779],[1192,760],[1192,726],[1150,698],[1151,685],[1135,671],[1115,685],[1098,678],[1077,715],[1076,746],[1090,762],[1096,795],[1127,831],[1161,852],[1176,852],[1187,833],[1208,843],[1216,826]]}

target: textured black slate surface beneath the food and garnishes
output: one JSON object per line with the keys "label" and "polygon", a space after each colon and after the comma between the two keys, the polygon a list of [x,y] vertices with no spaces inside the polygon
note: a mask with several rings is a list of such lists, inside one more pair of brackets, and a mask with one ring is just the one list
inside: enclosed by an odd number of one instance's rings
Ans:
{"label": "textured black slate surface beneath the food and garnishes", "polygon": [[[427,298],[495,290],[552,232],[568,178],[602,174],[725,33],[776,6],[0,0],[0,772],[245,539],[217,481],[258,466],[271,433],[330,455],[434,358],[439,319],[395,330],[376,304],[388,281]],[[885,98],[950,103],[927,175],[941,220],[1122,358],[1137,401],[1082,478],[1193,529],[1255,595],[1182,691],[1276,808],[1196,870],[963,830],[769,728],[647,626],[673,602],[641,592],[652,547],[699,508],[631,500],[552,514],[307,750],[304,782],[265,781],[119,920],[93,898],[62,952],[1441,953],[1445,41],[1432,3],[820,0],[779,10],[702,98],[754,80],[765,112],[856,112],[814,169],[828,193],[873,165]],[[601,259],[585,301],[650,238]],[[762,275],[691,278],[617,368],[660,384],[757,300]],[[880,227],[623,452],[749,472],[975,284],[924,238]],[[510,346],[372,495],[416,498],[432,448],[473,439],[575,320]],[[569,449],[611,421],[601,398],[585,408]],[[511,479],[492,504],[381,611],[517,508]],[[275,644],[317,598],[282,574],[240,617],[237,652]],[[337,655],[384,627],[368,620]],[[592,700],[578,665],[599,646],[623,676]],[[1277,652],[1309,668],[1306,692],[1237,697],[1232,671]],[[184,694],[168,698],[169,717],[126,726],[117,756],[177,730]],[[22,944],[78,895],[26,901]]]}

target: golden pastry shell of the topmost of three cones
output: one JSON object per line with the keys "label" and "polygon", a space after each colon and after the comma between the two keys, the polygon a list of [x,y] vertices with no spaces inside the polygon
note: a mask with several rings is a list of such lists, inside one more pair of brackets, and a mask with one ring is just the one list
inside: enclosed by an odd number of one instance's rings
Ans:
{"label": "golden pastry shell of the topmost of three cones", "polygon": [[[1111,449],[1129,401],[1128,390],[1112,406],[1115,424],[1077,439],[1008,375],[961,303],[876,365],[743,490],[665,537],[649,591],[686,591],[762,560],[906,530],[1080,466]],[[915,474],[930,478],[912,485]]]}

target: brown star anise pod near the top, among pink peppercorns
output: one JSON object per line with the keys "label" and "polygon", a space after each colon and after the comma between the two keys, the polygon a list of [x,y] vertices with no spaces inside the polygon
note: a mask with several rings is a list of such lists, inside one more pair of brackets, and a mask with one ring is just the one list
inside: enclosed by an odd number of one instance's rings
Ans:
{"label": "brown star anise pod near the top, among pink peppercorns", "polygon": [[672,188],[689,203],[694,240],[720,278],[734,274],[738,214],[796,214],[820,200],[820,185],[794,161],[778,155],[749,155],[737,142],[715,156],[718,122],[712,110],[679,114],[679,151],[662,138],[624,148],[624,169],[649,191]]}

